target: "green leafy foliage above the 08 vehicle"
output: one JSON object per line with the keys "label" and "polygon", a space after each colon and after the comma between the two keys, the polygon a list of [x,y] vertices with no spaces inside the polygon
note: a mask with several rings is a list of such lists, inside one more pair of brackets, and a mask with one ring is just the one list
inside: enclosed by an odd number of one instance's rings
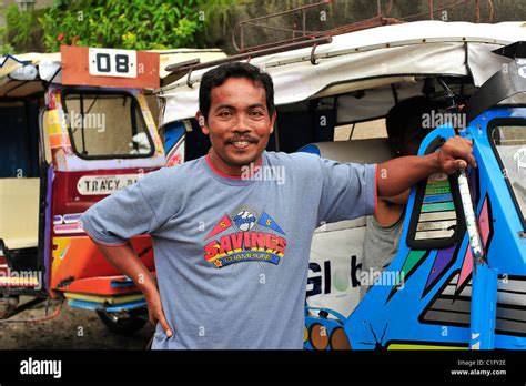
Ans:
{"label": "green leafy foliage above the 08 vehicle", "polygon": [[55,1],[40,18],[49,51],[61,44],[133,50],[200,47],[196,35],[235,0]]}

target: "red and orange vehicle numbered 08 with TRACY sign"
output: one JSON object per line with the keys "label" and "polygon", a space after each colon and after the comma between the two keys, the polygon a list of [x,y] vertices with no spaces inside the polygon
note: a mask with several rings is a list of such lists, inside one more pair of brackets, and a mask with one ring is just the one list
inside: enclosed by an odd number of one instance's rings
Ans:
{"label": "red and orange vehicle numbered 08 with TRACY sign", "polygon": [[[159,85],[159,54],[118,54],[144,65],[149,78],[93,74],[91,55],[114,59],[113,50],[64,47],[62,53],[6,59],[0,293],[12,306],[28,295],[65,297],[109,313],[144,308],[133,282],[102,256],[79,222],[98,201],[164,165],[143,91]],[[111,65],[99,62],[103,72]],[[153,272],[149,236],[134,237],[132,245]],[[11,307],[4,317],[14,313]]]}

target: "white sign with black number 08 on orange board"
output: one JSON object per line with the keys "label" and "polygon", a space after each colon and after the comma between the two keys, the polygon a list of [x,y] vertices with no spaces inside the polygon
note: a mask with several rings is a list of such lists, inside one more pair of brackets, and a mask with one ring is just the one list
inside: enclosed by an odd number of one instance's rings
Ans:
{"label": "white sign with black number 08 on orange board", "polygon": [[136,52],[132,50],[90,49],[89,62],[90,75],[136,78]]}

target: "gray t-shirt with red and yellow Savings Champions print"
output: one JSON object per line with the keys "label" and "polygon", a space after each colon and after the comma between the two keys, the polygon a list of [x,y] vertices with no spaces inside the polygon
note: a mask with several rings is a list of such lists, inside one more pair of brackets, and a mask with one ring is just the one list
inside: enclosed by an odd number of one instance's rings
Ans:
{"label": "gray t-shirt with red and yellow Savings Champions print", "polygon": [[81,221],[103,244],[152,236],[161,302],[152,348],[302,348],[312,235],[374,213],[375,165],[264,152],[250,179],[208,158],[148,174]]}

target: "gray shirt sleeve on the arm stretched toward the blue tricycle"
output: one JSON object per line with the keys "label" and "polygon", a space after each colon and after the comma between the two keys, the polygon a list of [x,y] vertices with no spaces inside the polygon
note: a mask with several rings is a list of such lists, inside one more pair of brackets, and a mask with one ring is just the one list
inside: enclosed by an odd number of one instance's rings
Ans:
{"label": "gray shirt sleeve on the arm stretched toward the blue tricycle", "polygon": [[318,225],[372,215],[376,210],[376,164],[320,159],[322,196]]}

